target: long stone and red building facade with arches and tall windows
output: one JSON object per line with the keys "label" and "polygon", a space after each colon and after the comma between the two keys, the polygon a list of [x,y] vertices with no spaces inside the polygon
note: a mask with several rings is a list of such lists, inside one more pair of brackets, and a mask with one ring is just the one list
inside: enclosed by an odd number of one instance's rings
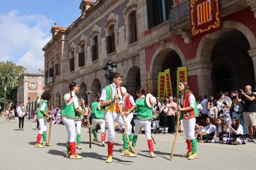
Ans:
{"label": "long stone and red building facade with arches and tall windows", "polygon": [[52,89],[51,103],[62,105],[72,81],[88,101],[85,91],[95,93],[107,84],[103,68],[108,60],[117,64],[134,97],[136,87],[147,89],[148,74],[156,95],[158,72],[167,68],[176,89],[180,66],[187,66],[197,97],[253,84],[255,6],[254,0],[221,0],[223,28],[191,39],[188,0],[82,0],[81,16],[67,28],[55,25],[52,40],[43,48],[45,89]]}

